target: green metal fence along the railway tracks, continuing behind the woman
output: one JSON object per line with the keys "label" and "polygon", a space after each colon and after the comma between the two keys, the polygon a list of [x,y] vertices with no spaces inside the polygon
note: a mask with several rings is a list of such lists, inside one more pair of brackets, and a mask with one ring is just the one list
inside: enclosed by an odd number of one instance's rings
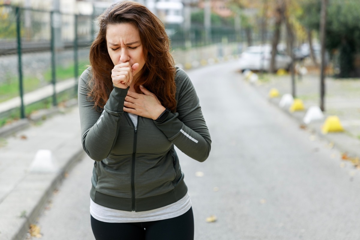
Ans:
{"label": "green metal fence along the railway tracks, continuing behind the woman", "polygon": [[[0,5],[0,126],[76,97],[98,31],[95,18]],[[181,51],[239,40],[231,27],[213,27],[210,37],[202,26],[187,32],[167,26],[167,32],[172,49]]]}

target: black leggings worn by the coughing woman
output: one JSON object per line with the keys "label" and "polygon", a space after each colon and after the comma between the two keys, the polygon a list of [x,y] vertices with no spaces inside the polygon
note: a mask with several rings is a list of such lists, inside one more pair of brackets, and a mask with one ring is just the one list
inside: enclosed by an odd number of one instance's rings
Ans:
{"label": "black leggings worn by the coughing woman", "polygon": [[91,216],[96,240],[193,240],[193,209],[179,217],[152,222],[108,223]]}

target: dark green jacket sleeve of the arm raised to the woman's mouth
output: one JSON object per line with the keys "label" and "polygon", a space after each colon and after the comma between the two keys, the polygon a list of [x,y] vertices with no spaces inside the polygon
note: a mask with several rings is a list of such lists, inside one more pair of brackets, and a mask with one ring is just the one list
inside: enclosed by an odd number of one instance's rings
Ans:
{"label": "dark green jacket sleeve of the arm raised to the woman's mouth", "polygon": [[114,87],[102,112],[94,108],[94,101],[87,94],[91,68],[80,76],[78,103],[82,146],[90,158],[101,161],[108,157],[118,133],[118,120],[123,116],[124,100],[128,89]]}

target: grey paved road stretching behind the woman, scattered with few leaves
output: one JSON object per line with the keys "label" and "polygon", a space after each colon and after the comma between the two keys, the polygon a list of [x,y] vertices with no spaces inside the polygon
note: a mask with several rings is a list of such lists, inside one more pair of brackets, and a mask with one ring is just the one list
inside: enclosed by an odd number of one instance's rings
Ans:
{"label": "grey paved road stretching behind the woman, scattered with few leaves", "polygon": [[[359,170],[242,81],[236,62],[188,73],[213,140],[204,163],[179,153],[196,240],[359,239]],[[69,172],[39,218],[43,240],[93,240],[92,164]]]}

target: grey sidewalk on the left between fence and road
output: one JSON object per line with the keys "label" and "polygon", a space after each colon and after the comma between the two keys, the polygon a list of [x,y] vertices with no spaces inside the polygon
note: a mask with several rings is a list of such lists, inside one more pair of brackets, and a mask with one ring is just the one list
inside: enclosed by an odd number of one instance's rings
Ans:
{"label": "grey sidewalk on the left between fence and road", "polygon": [[[54,172],[30,171],[39,149],[50,150]],[[0,137],[0,239],[23,240],[51,194],[83,154],[77,106],[59,109],[45,121]],[[36,169],[35,169],[36,170]]]}

